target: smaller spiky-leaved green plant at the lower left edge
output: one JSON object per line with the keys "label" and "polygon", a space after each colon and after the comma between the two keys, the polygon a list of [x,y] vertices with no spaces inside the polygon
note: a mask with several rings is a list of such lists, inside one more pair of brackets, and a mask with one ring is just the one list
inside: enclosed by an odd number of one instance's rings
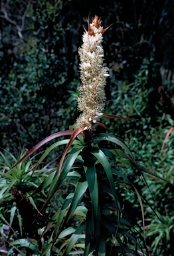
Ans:
{"label": "smaller spiky-leaved green plant at the lower left edge", "polygon": [[[24,149],[22,149],[21,154],[16,153],[14,155],[7,151],[0,152],[0,229],[1,240],[7,242],[4,251],[6,251],[11,242],[11,249],[8,255],[13,255],[16,250],[21,255],[24,255],[23,253],[26,250],[17,249],[16,245],[31,248],[36,252],[38,251],[37,241],[39,241],[40,237],[37,229],[39,229],[41,223],[45,220],[40,210],[46,198],[46,191],[43,190],[34,197],[31,196],[31,193],[54,171],[51,167],[49,168],[49,164],[44,165],[41,169],[36,169],[36,156],[28,161],[23,161],[17,167],[13,168],[14,164],[25,153],[26,151]],[[12,168],[13,170],[10,171]],[[62,201],[61,195],[58,197],[58,200],[60,204]],[[60,207],[60,205],[57,205],[57,207]],[[49,215],[49,213],[47,214]],[[23,239],[23,237],[32,237],[32,243],[29,239]],[[20,239],[13,241],[17,238]]]}

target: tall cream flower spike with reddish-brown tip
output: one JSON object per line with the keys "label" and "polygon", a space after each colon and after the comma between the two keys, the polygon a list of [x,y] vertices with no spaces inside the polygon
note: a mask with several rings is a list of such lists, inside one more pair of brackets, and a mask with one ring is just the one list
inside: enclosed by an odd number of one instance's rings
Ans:
{"label": "tall cream flower spike with reddish-brown tip", "polygon": [[106,29],[101,27],[101,21],[97,16],[84,32],[83,45],[79,48],[80,55],[80,79],[82,85],[78,88],[80,95],[77,99],[78,109],[82,114],[76,123],[88,130],[94,123],[100,121],[102,110],[105,107],[106,77],[108,67],[104,67],[104,50],[102,47],[103,33]]}

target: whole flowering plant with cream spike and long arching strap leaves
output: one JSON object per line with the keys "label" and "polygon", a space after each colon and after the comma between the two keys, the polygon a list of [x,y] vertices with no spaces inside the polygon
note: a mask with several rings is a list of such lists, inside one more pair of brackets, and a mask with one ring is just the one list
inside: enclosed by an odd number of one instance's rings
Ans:
{"label": "whole flowering plant with cream spike and long arching strap leaves", "polygon": [[[38,230],[40,239],[27,239],[27,243],[31,243],[33,255],[37,254],[36,251],[39,251],[37,255],[149,254],[145,244],[145,199],[122,169],[131,167],[137,170],[144,185],[147,185],[144,172],[158,176],[137,163],[126,143],[110,131],[110,127],[100,122],[101,118],[130,120],[103,113],[106,104],[104,87],[109,69],[104,64],[102,41],[107,29],[101,26],[101,20],[95,16],[92,23],[88,21],[88,31],[84,31],[83,44],[79,49],[82,85],[78,88],[80,94],[77,99],[78,109],[82,113],[76,123],[67,131],[59,131],[46,137],[5,174],[11,175],[17,166],[48,141],[60,136],[70,136],[69,139],[62,139],[48,147],[33,169],[34,174],[54,149],[65,146],[58,168],[52,170],[27,197],[33,198],[38,193],[46,193],[44,204],[39,209],[39,217],[46,215],[50,201],[54,199],[52,212]],[[100,130],[106,131],[98,133],[98,126],[102,127]],[[64,182],[72,186],[72,191],[56,209],[59,188]],[[124,211],[120,186],[137,196],[142,215],[139,225],[136,218],[131,221],[128,212]],[[17,239],[11,245],[19,248],[25,246],[25,242]]]}

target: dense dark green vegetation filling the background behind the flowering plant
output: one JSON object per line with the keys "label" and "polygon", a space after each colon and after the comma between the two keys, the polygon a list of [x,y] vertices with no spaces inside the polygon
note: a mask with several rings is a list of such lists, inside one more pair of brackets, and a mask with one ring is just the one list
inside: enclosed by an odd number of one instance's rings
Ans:
{"label": "dense dark green vegetation filling the background behind the flowering plant", "polygon": [[[169,0],[108,0],[107,5],[106,1],[3,1],[0,10],[1,152],[3,149],[11,153],[14,149],[21,152],[21,147],[26,151],[48,135],[74,124],[79,115],[76,97],[80,84],[78,47],[82,44],[82,25],[87,28],[88,15],[99,15],[104,27],[112,24],[104,34],[103,43],[105,62],[110,67],[106,113],[137,119],[106,119],[104,123],[126,141],[136,161],[173,183],[174,131],[169,130],[174,120],[173,10],[174,3]],[[104,131],[103,127],[98,130]],[[171,133],[161,150],[168,131]],[[60,151],[52,153],[52,159],[60,155]],[[17,161],[14,157],[13,161],[9,158],[8,153],[2,153],[2,171],[7,171]],[[3,169],[5,164],[7,168]],[[20,182],[15,184],[15,189],[27,196],[47,174],[42,169],[41,177],[35,173],[29,181],[31,173],[26,174],[25,167],[22,169],[24,173],[16,173],[19,177],[15,179]],[[122,172],[137,185],[155,209],[154,213],[145,204],[149,251],[152,255],[172,255],[173,187],[145,175],[151,190],[149,193],[134,169],[126,167]],[[14,177],[8,179],[12,182]],[[2,191],[3,185],[1,183]],[[12,194],[8,191],[3,196],[4,192],[1,193],[4,200],[1,209],[4,209],[6,199],[11,202],[8,209],[3,210],[1,226],[5,223],[4,219],[9,218],[11,209],[15,211],[13,199],[18,195],[15,189]],[[66,183],[60,187],[57,208],[63,201],[61,194],[67,195],[70,189]],[[35,197],[35,203],[42,205],[44,195]],[[125,211],[131,209],[132,216],[136,216],[132,221],[140,223],[141,209],[137,198],[121,187],[120,197]],[[31,235],[31,223],[25,225],[22,238]],[[1,233],[3,236],[3,226]]]}

